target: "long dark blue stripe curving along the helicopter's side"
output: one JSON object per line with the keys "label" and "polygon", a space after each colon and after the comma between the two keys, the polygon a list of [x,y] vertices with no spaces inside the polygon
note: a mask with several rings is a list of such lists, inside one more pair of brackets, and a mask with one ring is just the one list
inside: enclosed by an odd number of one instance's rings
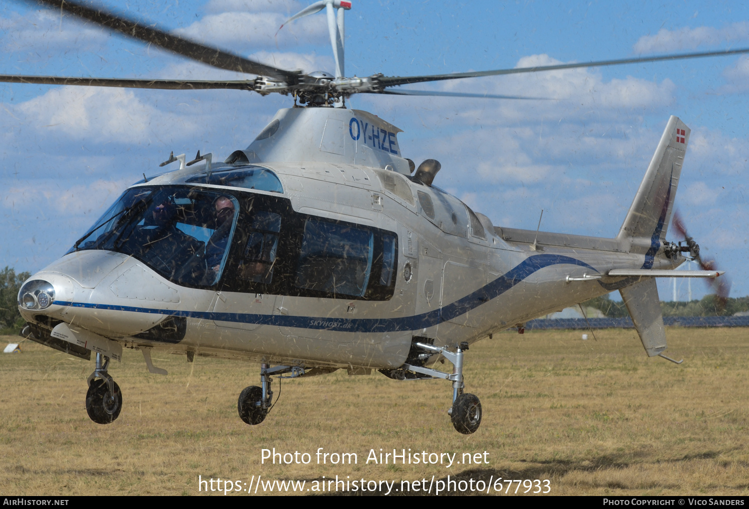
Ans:
{"label": "long dark blue stripe curving along the helicopter's side", "polygon": [[516,284],[523,281],[534,272],[552,265],[577,265],[595,271],[595,268],[587,263],[572,257],[563,255],[533,255],[526,258],[506,274],[500,275],[491,283],[479,288],[473,293],[458,299],[443,308],[417,314],[411,317],[397,318],[326,318],[326,317],[300,317],[287,316],[283,314],[245,314],[245,313],[214,313],[210,311],[179,311],[168,309],[136,308],[125,305],[90,304],[86,302],[64,302],[55,301],[56,305],[65,305],[73,308],[105,309],[108,311],[128,311],[133,313],[167,314],[176,317],[198,318],[203,320],[214,320],[216,322],[254,323],[258,325],[271,325],[279,327],[295,327],[298,329],[320,329],[339,332],[398,332],[425,329],[453,320],[468,311],[478,308],[480,305],[494,299]]}

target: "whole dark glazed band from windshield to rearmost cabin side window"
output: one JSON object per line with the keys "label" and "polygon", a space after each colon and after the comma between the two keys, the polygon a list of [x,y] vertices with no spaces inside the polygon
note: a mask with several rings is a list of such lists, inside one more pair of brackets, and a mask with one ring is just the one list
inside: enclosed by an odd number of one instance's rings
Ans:
{"label": "whole dark glazed band from windshield to rearmost cabin side window", "polygon": [[182,286],[333,299],[390,299],[398,266],[390,231],[195,186],[128,189],[72,251],[86,249],[133,256]]}

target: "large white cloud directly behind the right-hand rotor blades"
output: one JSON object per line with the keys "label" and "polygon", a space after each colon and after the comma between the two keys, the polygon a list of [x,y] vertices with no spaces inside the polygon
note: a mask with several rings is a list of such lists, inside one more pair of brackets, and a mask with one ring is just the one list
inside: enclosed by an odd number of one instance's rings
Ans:
{"label": "large white cloud directly behind the right-hand rotor blades", "polygon": [[[521,58],[517,67],[560,63],[548,55],[531,55]],[[355,97],[354,100],[376,104],[377,109],[392,109],[396,115],[404,109],[417,111],[426,127],[443,124],[447,118],[451,124],[471,126],[480,119],[482,129],[492,125],[518,124],[539,127],[552,122],[556,127],[557,124],[583,121],[586,124],[611,124],[612,132],[618,135],[625,126],[631,125],[625,120],[631,115],[640,115],[639,112],[645,110],[649,113],[664,110],[676,100],[676,85],[670,79],[652,82],[629,76],[605,81],[598,70],[585,68],[456,79],[408,88],[543,97],[548,100],[398,96]],[[556,128],[554,131],[560,132]]]}

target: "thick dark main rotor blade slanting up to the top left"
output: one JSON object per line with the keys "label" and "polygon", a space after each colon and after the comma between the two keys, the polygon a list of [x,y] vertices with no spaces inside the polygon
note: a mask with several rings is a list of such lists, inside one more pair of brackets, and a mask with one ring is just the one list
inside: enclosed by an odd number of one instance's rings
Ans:
{"label": "thick dark main rotor blade slanting up to the top left", "polygon": [[[31,0],[27,1],[31,2]],[[37,2],[46,4],[49,7],[55,7],[58,10],[65,10],[75,16],[118,31],[121,34],[127,35],[127,37],[133,37],[133,39],[160,46],[178,55],[192,58],[192,60],[212,65],[219,69],[270,76],[276,79],[284,79],[289,84],[294,83],[294,76],[297,76],[297,73],[288,70],[277,69],[276,67],[248,60],[220,49],[204,46],[203,44],[192,42],[192,40],[168,34],[157,28],[150,28],[130,19],[115,16],[101,7],[86,7],[70,0],[34,0],[31,3]]]}

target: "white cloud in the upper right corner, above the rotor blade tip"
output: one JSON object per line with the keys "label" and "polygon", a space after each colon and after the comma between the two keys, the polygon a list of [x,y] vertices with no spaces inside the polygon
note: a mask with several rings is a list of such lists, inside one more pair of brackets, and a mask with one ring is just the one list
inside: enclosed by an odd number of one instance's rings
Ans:
{"label": "white cloud in the upper right corner, above the rotor blade tip", "polygon": [[736,22],[723,28],[661,28],[655,35],[643,35],[634,44],[636,53],[670,52],[695,49],[698,46],[717,46],[739,40],[749,40],[749,22]]}

